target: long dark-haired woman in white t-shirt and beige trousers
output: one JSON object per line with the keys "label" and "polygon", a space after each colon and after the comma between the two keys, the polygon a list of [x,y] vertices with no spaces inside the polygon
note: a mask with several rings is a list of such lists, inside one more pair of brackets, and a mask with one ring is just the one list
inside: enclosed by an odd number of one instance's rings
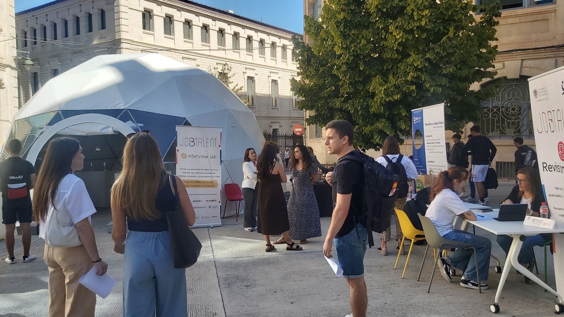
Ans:
{"label": "long dark-haired woman in white t-shirt and beige trousers", "polygon": [[35,185],[33,213],[43,258],[49,268],[49,316],[94,316],[96,294],[78,283],[92,266],[104,275],[90,216],[96,212],[84,182],[74,175],[84,166],[77,140],[61,137],[47,146]]}

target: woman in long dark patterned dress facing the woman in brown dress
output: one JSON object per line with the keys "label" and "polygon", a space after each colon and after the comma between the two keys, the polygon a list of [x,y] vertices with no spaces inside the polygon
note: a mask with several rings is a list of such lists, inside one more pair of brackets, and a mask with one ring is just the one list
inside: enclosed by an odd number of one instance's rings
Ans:
{"label": "woman in long dark patterned dress facing the woman in brown dress", "polygon": [[[318,167],[315,165],[305,145],[298,144],[290,155],[290,172],[294,177],[292,193],[288,200],[288,218],[290,236],[299,243],[307,243],[307,239],[321,236],[319,207],[311,183],[318,180]],[[288,242],[284,237],[275,244]]]}

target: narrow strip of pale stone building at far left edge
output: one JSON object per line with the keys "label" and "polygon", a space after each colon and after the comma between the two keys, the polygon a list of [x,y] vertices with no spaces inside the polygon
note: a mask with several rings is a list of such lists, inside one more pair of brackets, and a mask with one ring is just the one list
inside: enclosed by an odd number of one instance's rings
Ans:
{"label": "narrow strip of pale stone building at far left edge", "polygon": [[0,146],[10,133],[18,107],[14,0],[0,2]]}

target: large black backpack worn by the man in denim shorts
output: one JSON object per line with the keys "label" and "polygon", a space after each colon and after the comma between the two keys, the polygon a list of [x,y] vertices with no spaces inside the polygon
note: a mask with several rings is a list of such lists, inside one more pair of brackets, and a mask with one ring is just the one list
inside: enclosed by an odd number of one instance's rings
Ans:
{"label": "large black backpack worn by the man in denim shorts", "polygon": [[[356,222],[368,229],[368,245],[372,247],[374,245],[372,231],[382,233],[390,227],[390,217],[394,211],[395,200],[398,198],[399,176],[372,157],[358,150],[357,152],[360,158],[346,158],[361,163],[364,170],[362,210],[354,211],[354,217]],[[356,234],[359,235],[358,229]]]}

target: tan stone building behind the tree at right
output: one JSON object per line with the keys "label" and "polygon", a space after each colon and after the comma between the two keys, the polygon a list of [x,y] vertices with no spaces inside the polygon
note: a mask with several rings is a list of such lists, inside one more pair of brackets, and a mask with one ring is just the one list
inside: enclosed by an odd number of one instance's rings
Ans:
{"label": "tan stone building behind the tree at right", "polygon": [[[305,14],[315,14],[316,3],[318,0],[304,0]],[[482,134],[490,137],[497,147],[492,166],[500,178],[513,178],[514,137],[521,136],[532,148],[535,145],[527,79],[564,65],[564,1],[508,0],[503,3],[501,17],[497,19],[498,40],[493,43],[499,50],[494,61],[496,78],[474,83],[471,88],[479,90],[493,81],[504,82],[496,96],[482,102],[480,122],[464,127],[462,141],[468,140],[470,127],[479,124]],[[452,131],[445,133],[447,149],[452,148],[452,134]],[[314,148],[320,162],[336,162],[334,155],[325,154],[323,136],[324,129],[320,127],[309,126],[306,130],[306,142]],[[402,145],[402,153],[412,154],[411,140]],[[374,151],[369,154],[380,155]]]}

